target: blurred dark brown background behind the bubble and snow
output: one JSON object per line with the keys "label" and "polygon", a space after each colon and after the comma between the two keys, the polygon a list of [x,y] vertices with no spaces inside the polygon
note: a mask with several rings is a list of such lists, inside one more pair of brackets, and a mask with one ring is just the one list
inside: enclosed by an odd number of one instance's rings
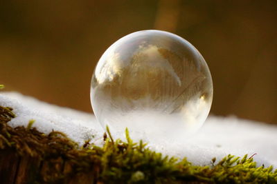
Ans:
{"label": "blurred dark brown background behind the bubble and snow", "polygon": [[277,123],[277,1],[0,2],[0,84],[86,112],[93,69],[131,32],[166,30],[202,53],[216,115]]}

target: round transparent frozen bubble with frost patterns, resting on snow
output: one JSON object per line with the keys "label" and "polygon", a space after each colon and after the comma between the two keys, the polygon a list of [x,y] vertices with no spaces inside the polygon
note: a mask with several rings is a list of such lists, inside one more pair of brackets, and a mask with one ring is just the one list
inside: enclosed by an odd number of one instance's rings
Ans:
{"label": "round transparent frozen bubble with frost patterns, resting on snow", "polygon": [[184,140],[211,108],[208,65],[185,39],[159,30],[128,34],[102,55],[91,79],[96,119],[124,139]]}

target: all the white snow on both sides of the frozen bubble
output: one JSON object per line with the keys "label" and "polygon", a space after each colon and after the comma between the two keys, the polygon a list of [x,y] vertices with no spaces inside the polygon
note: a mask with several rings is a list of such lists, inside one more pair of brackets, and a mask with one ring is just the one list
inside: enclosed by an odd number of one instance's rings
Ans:
{"label": "all the white snow on both sides of the frozen bubble", "polygon": [[[50,105],[17,92],[0,92],[0,105],[14,109],[17,117],[9,122],[12,127],[27,126],[33,119],[33,126],[45,134],[61,131],[80,145],[87,139],[102,144],[103,130],[92,113]],[[170,156],[186,156],[195,165],[211,164],[213,157],[218,161],[227,154],[251,156],[256,153],[253,159],[258,165],[277,167],[277,125],[235,117],[209,116],[199,132],[185,141],[149,143],[148,146]]]}

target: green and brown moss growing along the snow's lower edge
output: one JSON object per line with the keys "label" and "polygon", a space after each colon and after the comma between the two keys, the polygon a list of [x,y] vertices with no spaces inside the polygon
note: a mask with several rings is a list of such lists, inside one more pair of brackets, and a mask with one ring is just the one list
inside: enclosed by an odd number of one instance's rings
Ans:
{"label": "green and brown moss growing along the snow's lower edge", "polygon": [[102,147],[79,147],[62,132],[38,132],[33,121],[27,128],[12,128],[7,123],[13,117],[11,108],[0,106],[0,149],[36,161],[29,164],[28,183],[277,183],[272,166],[256,167],[247,155],[228,155],[218,163],[213,159],[211,166],[192,165],[186,158],[153,152],[142,141],[134,143],[127,131],[127,142],[114,141],[108,129]]}

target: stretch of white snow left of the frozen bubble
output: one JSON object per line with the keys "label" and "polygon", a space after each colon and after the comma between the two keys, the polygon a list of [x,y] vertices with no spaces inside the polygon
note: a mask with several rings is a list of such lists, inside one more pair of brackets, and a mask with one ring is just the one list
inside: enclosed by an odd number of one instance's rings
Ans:
{"label": "stretch of white snow left of the frozen bubble", "polygon": [[104,131],[89,113],[60,108],[17,92],[1,92],[0,105],[13,108],[16,117],[8,123],[11,127],[26,127],[30,120],[35,120],[33,127],[45,134],[53,130],[64,132],[80,145],[88,139],[102,142]]}

